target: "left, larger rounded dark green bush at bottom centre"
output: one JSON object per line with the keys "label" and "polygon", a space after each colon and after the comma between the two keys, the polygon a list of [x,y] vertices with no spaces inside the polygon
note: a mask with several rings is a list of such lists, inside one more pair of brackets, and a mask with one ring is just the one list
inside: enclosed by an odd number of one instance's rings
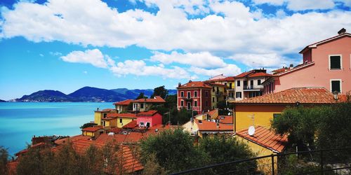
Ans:
{"label": "left, larger rounded dark green bush at bottom centre", "polygon": [[168,172],[179,172],[208,162],[207,156],[194,147],[190,134],[180,128],[148,137],[142,141],[141,150],[144,163],[150,159],[150,154],[154,154],[159,165]]}

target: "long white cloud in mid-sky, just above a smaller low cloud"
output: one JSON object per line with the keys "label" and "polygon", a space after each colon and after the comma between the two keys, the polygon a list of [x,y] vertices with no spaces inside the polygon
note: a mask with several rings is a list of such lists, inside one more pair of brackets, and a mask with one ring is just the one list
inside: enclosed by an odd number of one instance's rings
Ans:
{"label": "long white cloud in mid-sky, just above a smaller low cloud", "polygon": [[197,52],[197,53],[178,53],[176,51],[171,54],[162,52],[154,52],[151,57],[152,61],[161,62],[163,64],[171,64],[177,62],[180,64],[187,64],[198,66],[202,68],[216,68],[225,66],[225,62],[220,57],[211,55],[210,52]]}

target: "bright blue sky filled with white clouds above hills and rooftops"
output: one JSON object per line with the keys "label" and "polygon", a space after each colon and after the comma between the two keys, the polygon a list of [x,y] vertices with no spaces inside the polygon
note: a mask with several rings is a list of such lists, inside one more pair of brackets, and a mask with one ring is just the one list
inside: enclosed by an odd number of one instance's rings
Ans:
{"label": "bright blue sky filled with white clouds above hills and rooftops", "polygon": [[0,99],[150,89],[300,64],[351,31],[351,0],[0,1]]}

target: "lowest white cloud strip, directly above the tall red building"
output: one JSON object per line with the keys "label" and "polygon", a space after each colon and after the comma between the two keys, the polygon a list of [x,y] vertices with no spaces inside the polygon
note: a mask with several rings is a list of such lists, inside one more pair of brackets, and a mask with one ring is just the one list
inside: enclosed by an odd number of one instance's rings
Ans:
{"label": "lowest white cloud strip, directly above the tall red building", "polygon": [[196,66],[190,67],[190,71],[204,76],[217,76],[224,74],[225,76],[236,76],[241,73],[241,69],[235,64],[227,64],[225,67],[217,69],[204,69]]}

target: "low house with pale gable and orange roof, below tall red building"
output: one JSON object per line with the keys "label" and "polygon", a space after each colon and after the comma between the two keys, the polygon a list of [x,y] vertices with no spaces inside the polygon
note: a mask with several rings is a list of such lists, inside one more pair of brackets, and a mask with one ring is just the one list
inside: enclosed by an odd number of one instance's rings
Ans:
{"label": "low house with pale gable and orange roof, below tall red building", "polygon": [[219,136],[233,133],[232,125],[225,125],[208,120],[192,119],[183,126],[184,131],[194,137]]}

